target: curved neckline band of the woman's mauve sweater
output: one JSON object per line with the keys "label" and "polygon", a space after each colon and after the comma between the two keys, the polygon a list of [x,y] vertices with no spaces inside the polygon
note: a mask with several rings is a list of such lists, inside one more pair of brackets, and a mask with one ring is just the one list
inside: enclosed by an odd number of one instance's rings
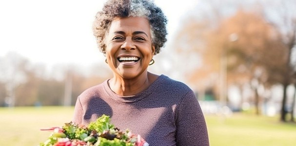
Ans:
{"label": "curved neckline band of the woman's mauve sweater", "polygon": [[115,101],[122,102],[122,103],[131,103],[131,102],[137,102],[139,100],[142,100],[143,98],[147,97],[150,95],[155,89],[157,88],[159,82],[163,80],[165,75],[161,74],[158,76],[158,78],[145,90],[139,92],[138,94],[135,95],[130,95],[130,96],[120,96],[114,91],[111,90],[111,88],[108,85],[108,80],[107,79],[103,82],[104,90],[107,92],[107,94]]}

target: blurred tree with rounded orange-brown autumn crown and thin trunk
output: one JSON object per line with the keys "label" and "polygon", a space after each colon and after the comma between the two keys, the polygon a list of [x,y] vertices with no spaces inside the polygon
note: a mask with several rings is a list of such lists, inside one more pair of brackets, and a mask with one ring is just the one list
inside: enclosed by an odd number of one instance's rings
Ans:
{"label": "blurred tree with rounded orange-brown autumn crown and thin trunk", "polygon": [[[284,54],[278,47],[277,31],[254,12],[237,11],[215,32],[217,49],[227,56],[229,84],[249,82],[255,93],[256,113],[259,114],[258,88],[269,85],[269,68],[279,68]],[[215,40],[212,40],[212,42]],[[277,61],[271,61],[277,60]]]}

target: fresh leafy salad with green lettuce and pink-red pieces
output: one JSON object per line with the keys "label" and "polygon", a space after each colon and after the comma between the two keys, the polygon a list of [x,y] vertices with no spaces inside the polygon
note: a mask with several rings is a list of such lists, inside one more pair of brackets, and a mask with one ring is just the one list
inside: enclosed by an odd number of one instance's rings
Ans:
{"label": "fresh leafy salad with green lettuce and pink-red pieces", "polygon": [[73,122],[63,127],[41,130],[53,131],[39,146],[149,146],[140,136],[126,129],[120,131],[110,124],[109,116],[102,115],[87,127]]}

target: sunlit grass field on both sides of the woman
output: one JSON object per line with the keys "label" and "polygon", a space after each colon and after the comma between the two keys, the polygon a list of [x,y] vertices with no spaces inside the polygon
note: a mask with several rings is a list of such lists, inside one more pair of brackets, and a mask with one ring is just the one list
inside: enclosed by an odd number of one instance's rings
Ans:
{"label": "sunlit grass field on both sides of the woman", "polygon": [[[50,132],[40,128],[70,122],[73,107],[0,108],[0,146],[37,146]],[[296,146],[296,124],[277,117],[236,113],[206,115],[211,146]]]}

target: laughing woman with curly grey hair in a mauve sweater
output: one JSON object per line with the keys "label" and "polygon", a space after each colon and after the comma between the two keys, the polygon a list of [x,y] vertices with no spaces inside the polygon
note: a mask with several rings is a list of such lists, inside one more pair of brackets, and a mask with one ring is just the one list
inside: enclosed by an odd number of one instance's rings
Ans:
{"label": "laughing woman with curly grey hair in a mauve sweater", "polygon": [[165,75],[149,73],[166,42],[166,17],[150,0],[109,0],[94,34],[113,78],[81,93],[73,122],[87,125],[102,114],[150,146],[208,146],[204,116],[194,92]]}

